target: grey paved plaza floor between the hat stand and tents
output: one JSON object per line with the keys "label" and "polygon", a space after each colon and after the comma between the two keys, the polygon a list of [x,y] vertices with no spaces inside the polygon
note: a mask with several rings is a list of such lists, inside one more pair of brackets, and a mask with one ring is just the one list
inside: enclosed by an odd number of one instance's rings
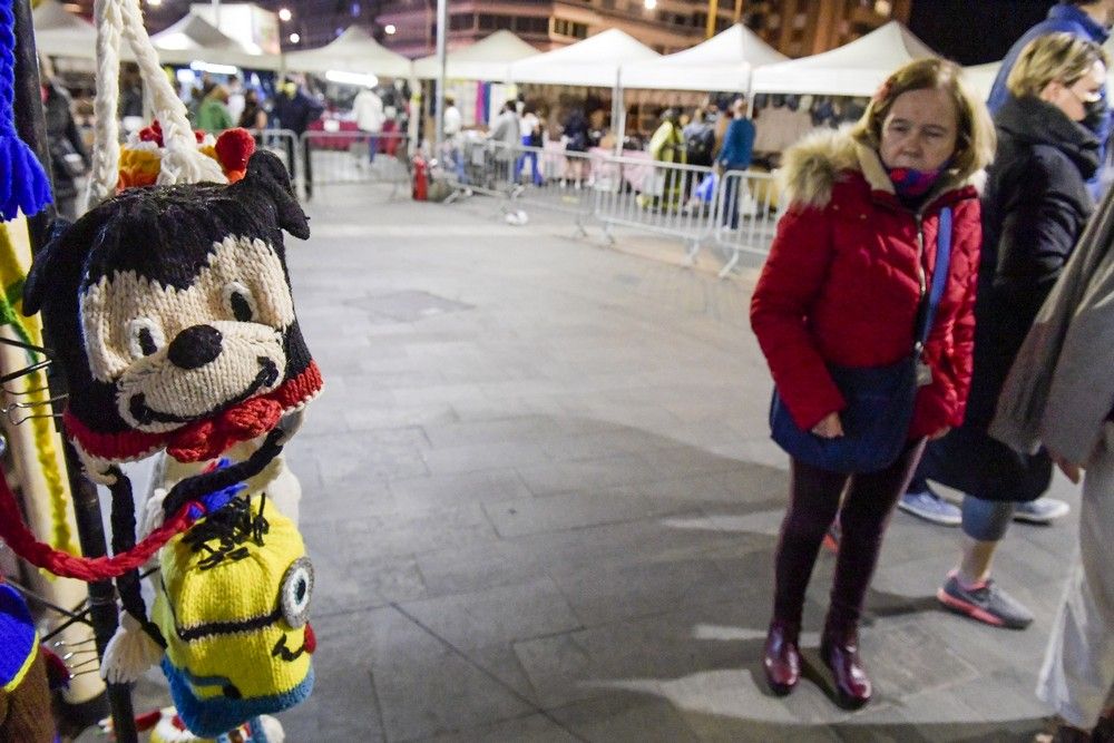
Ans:
{"label": "grey paved plaza floor between the hat stand and tents", "polygon": [[[316,566],[319,648],[287,741],[1025,741],[1075,539],[1018,525],[997,561],[1037,619],[993,629],[934,598],[958,530],[893,517],[868,598],[876,700],[760,653],[784,456],[747,322],[720,281],[554,219],[322,187],[290,241],[326,380],[290,444]],[[662,245],[680,258],[683,248]],[[866,301],[866,297],[864,297]]]}

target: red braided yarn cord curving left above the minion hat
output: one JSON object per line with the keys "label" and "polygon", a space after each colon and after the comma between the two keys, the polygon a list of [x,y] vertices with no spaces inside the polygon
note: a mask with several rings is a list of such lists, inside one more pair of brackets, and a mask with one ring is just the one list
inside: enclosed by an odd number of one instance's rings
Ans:
{"label": "red braided yarn cord curving left above the minion hat", "polygon": [[134,570],[162,549],[170,538],[185,531],[194,519],[189,518],[189,506],[178,509],[174,518],[148,535],[135,548],[111,557],[76,557],[43,544],[23,524],[16,497],[8,487],[8,480],[0,470],[0,537],[12,551],[36,567],[49,570],[62,578],[77,578],[87,583],[117,578]]}

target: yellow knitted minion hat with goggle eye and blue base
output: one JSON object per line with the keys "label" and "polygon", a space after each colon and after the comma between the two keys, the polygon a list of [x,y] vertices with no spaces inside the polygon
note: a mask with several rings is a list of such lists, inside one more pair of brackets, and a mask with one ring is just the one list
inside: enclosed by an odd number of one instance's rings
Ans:
{"label": "yellow knitted minion hat with goggle eye and blue base", "polygon": [[313,688],[313,566],[265,495],[234,497],[163,549],[152,619],[183,722],[218,735]]}

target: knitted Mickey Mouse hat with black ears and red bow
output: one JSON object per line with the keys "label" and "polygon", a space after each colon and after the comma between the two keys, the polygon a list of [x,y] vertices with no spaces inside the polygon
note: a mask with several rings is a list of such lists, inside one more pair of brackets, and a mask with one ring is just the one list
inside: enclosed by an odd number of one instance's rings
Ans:
{"label": "knitted Mickey Mouse hat with black ears and red bow", "polygon": [[282,231],[310,234],[284,166],[260,151],[231,186],[125,190],[36,257],[23,312],[46,310],[92,477],[162,448],[212,459],[319,392]]}

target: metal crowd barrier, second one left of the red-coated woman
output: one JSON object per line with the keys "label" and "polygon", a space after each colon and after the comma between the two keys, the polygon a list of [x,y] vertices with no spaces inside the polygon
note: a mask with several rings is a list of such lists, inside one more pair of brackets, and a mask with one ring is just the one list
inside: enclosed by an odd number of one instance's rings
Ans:
{"label": "metal crowd barrier, second one left of the red-coated woman", "polygon": [[685,263],[691,264],[712,232],[714,189],[701,197],[711,174],[712,168],[696,165],[602,158],[593,174],[594,215],[612,243],[617,225],[680,237],[688,245]]}

